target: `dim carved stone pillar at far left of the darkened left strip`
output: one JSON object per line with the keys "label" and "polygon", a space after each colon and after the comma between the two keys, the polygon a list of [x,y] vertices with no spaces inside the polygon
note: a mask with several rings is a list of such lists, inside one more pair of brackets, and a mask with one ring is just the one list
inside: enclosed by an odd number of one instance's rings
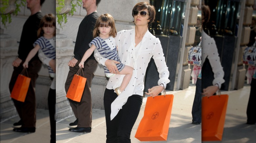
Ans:
{"label": "dim carved stone pillar at far left of the darkened left strip", "polygon": [[1,106],[1,120],[17,116],[16,108],[11,100],[11,93],[9,91],[9,82],[11,79],[13,66],[12,62],[18,53],[17,40],[11,38],[10,35],[4,34],[4,29],[1,29],[0,34],[0,73],[1,73],[1,84],[0,84],[0,106]]}

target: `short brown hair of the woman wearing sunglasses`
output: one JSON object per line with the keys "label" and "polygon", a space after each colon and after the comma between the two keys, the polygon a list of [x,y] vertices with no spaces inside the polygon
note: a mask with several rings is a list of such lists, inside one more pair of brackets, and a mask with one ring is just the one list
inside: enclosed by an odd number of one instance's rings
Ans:
{"label": "short brown hair of the woman wearing sunglasses", "polygon": [[[154,6],[150,5],[150,3],[148,2],[140,2],[138,4],[136,4],[134,7],[133,7],[133,11],[134,10],[138,10],[138,11],[141,11],[143,9],[147,9],[148,10],[148,14],[149,14],[149,22],[148,22],[148,26],[150,24],[152,24],[154,21],[155,21],[155,16],[156,16],[156,9]],[[133,12],[132,11],[132,12]],[[134,16],[133,16],[134,17]]]}

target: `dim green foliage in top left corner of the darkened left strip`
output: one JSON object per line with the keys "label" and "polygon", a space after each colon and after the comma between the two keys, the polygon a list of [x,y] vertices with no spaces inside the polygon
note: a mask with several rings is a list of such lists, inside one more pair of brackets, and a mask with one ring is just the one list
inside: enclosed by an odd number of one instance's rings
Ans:
{"label": "dim green foliage in top left corner of the darkened left strip", "polygon": [[[15,9],[13,15],[17,16],[21,6],[26,6],[26,0],[16,0],[14,3]],[[9,7],[9,0],[1,0],[0,17],[1,23],[6,27],[6,23],[11,23],[11,13],[6,14],[6,9]]]}

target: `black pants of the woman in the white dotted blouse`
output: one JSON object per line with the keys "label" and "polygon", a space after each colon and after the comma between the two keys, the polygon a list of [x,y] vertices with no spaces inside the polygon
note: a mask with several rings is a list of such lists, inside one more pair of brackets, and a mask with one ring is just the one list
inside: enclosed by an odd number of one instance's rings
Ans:
{"label": "black pants of the woman in the white dotted blouse", "polygon": [[118,112],[117,116],[110,120],[111,103],[117,98],[113,89],[106,89],[104,93],[104,108],[107,126],[106,143],[130,143],[133,125],[139,115],[142,104],[142,96],[132,95]]}

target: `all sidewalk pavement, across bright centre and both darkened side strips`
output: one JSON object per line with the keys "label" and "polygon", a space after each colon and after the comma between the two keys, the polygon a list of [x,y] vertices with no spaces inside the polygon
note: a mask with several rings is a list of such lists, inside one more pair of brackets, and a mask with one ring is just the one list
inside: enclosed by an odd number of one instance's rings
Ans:
{"label": "all sidewalk pavement, across bright centre and both darkened side strips", "polygon": [[[255,143],[256,125],[247,125],[246,107],[249,99],[250,86],[233,91],[223,91],[228,94],[228,106],[226,111],[224,133],[222,141],[208,141],[205,143]],[[195,86],[190,85],[187,89],[178,91],[168,91],[173,94],[173,106],[167,141],[152,141],[145,143],[201,143],[201,124],[193,125],[191,109],[195,95]],[[131,142],[140,143],[135,138],[135,133],[139,122],[143,117],[147,97],[143,98],[143,103],[139,117],[132,129]],[[19,117],[11,118],[1,122],[1,143],[49,143],[50,123],[48,110],[37,109],[37,126],[35,133],[13,132],[12,124],[19,120]],[[106,123],[103,110],[93,109],[93,122],[91,133],[74,133],[68,131],[70,122],[75,121],[75,117],[56,122],[56,143],[104,143],[106,142]]]}

